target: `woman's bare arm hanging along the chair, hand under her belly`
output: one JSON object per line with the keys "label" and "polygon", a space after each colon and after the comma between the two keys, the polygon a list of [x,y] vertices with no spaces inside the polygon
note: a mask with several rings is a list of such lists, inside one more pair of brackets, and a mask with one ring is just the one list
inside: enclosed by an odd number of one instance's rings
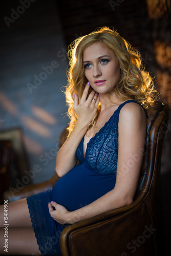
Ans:
{"label": "woman's bare arm hanging along the chair, hand under her belly", "polygon": [[133,202],[139,179],[146,135],[146,116],[136,103],[123,106],[119,115],[118,164],[114,189],[75,211],[53,202],[50,214],[61,224],[89,219],[104,212],[129,205]]}

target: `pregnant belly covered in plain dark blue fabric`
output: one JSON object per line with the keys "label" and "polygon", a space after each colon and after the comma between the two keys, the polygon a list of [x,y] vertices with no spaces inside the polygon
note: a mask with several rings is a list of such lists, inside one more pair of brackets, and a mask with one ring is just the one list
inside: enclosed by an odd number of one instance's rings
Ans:
{"label": "pregnant belly covered in plain dark blue fabric", "polygon": [[51,199],[73,211],[108,193],[115,182],[116,175],[99,174],[81,163],[56,182]]}

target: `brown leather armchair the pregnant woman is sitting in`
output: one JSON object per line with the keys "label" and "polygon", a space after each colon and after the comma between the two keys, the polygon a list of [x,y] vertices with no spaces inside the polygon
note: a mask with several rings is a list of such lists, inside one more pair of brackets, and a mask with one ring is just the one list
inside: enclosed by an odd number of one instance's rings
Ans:
{"label": "brown leather armchair the pregnant woman is sitting in", "polygon": [[[62,255],[165,255],[160,166],[168,106],[156,101],[147,109],[147,115],[146,146],[134,202],[66,227],[60,238]],[[29,185],[29,194],[53,186],[57,179],[55,175],[54,180],[40,184],[35,191],[32,189],[36,186]],[[27,193],[26,188],[23,195],[20,191],[18,199]]]}

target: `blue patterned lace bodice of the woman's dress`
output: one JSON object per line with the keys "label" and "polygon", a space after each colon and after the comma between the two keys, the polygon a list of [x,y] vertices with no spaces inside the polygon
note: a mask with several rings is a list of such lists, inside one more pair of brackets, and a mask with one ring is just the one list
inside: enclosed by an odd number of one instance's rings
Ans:
{"label": "blue patterned lace bodice of the woman's dress", "polygon": [[138,103],[135,100],[127,100],[119,105],[118,109],[113,113],[100,131],[88,142],[85,157],[83,156],[84,137],[77,148],[77,159],[80,162],[86,163],[88,167],[95,172],[102,174],[116,174],[119,113],[121,108],[129,102]]}

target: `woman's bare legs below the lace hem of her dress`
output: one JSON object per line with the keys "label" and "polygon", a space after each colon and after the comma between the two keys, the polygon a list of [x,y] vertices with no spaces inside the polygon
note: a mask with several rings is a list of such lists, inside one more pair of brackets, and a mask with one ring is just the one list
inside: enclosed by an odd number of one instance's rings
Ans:
{"label": "woman's bare legs below the lace hem of her dress", "polygon": [[[4,221],[4,213],[4,205],[1,205],[0,254],[40,255],[26,199],[8,204],[7,223]],[[5,227],[7,227],[7,232]],[[6,249],[4,247],[6,241],[8,241],[8,249],[4,251]]]}

